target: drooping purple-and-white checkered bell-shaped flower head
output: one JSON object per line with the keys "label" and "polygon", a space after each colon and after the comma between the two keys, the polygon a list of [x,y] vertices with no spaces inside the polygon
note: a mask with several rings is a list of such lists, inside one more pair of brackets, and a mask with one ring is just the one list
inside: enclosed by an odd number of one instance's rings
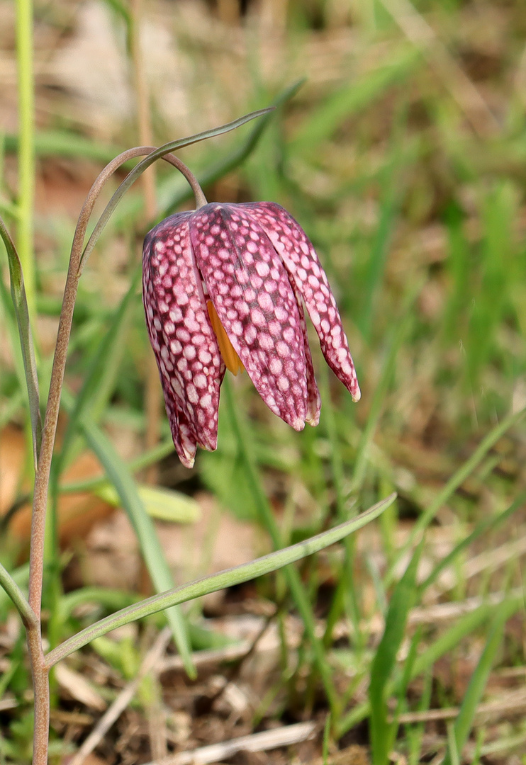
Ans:
{"label": "drooping purple-and-white checkered bell-shaped flower head", "polygon": [[206,204],[145,238],[143,295],[150,340],[181,462],[217,446],[225,369],[243,368],[292,428],[317,425],[321,401],[302,301],[336,376],[360,398],[335,298],[312,244],[278,204]]}

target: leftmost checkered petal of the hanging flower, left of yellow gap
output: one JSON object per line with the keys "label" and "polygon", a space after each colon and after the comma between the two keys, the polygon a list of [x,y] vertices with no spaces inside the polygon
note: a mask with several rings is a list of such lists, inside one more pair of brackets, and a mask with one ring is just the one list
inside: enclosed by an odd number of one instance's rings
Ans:
{"label": "leftmost checkered petal of the hanging flower, left of yellow gap", "polygon": [[194,464],[196,444],[217,447],[219,389],[224,377],[191,252],[191,213],[155,226],[143,251],[146,324],[158,363],[172,437],[181,462]]}

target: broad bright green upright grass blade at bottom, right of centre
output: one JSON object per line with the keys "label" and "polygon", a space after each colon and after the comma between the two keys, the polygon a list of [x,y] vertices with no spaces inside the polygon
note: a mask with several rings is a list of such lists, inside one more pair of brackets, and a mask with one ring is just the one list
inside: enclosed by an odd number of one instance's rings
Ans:
{"label": "broad bright green upright grass blade at bottom, right of centre", "polygon": [[390,597],[385,618],[385,629],[371,665],[369,701],[371,702],[371,747],[374,765],[385,765],[388,760],[390,723],[387,720],[387,688],[403,640],[407,615],[416,594],[417,576],[423,541],[415,550],[409,565],[397,582]]}

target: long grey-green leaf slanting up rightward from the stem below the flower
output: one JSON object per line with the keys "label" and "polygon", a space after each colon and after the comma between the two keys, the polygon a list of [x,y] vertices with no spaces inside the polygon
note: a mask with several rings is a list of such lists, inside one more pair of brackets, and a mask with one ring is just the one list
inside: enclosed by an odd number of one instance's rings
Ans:
{"label": "long grey-green leaf slanting up rightward from the stem below the flower", "polygon": [[168,592],[153,595],[139,604],[126,607],[116,614],[100,620],[91,627],[81,630],[80,633],[77,633],[77,635],[74,635],[69,640],[65,640],[60,646],[47,653],[45,656],[46,666],[54,666],[61,659],[69,656],[70,653],[74,653],[74,651],[90,643],[91,640],[105,635],[111,630],[115,630],[116,627],[122,627],[123,624],[129,624],[132,621],[156,614],[158,611],[186,603],[195,597],[202,597],[208,593],[216,592],[226,587],[233,587],[235,584],[241,584],[244,581],[250,581],[250,579],[269,574],[270,571],[276,571],[276,568],[282,568],[299,561],[305,558],[306,555],[319,552],[319,550],[339,542],[346,535],[358,531],[358,529],[361,529],[367,523],[377,518],[393,501],[394,495],[388,496],[387,499],[381,500],[381,502],[361,513],[360,516],[341,523],[339,526],[335,526],[334,529],[313,536],[311,539],[306,539],[304,542],[299,542],[277,552],[271,552],[270,555],[256,558],[256,560],[250,563],[243,563],[240,566],[236,566],[236,568],[219,571],[217,574],[198,579],[190,584],[184,584]]}

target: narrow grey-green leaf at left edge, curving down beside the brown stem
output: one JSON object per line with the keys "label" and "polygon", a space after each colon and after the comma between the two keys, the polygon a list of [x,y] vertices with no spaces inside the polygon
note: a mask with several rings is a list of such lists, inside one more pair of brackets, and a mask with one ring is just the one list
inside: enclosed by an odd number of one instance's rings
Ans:
{"label": "narrow grey-green leaf at left edge, curving down beside the brown stem", "polygon": [[8,229],[0,217],[0,236],[8,254],[9,275],[11,278],[11,297],[15,305],[15,315],[20,335],[22,358],[24,360],[25,381],[28,388],[29,413],[31,417],[31,433],[33,435],[33,457],[35,469],[38,464],[42,439],[42,423],[38,394],[37,364],[34,358],[33,336],[29,323],[28,301],[25,295],[24,276],[21,262],[15,244],[9,236]]}

